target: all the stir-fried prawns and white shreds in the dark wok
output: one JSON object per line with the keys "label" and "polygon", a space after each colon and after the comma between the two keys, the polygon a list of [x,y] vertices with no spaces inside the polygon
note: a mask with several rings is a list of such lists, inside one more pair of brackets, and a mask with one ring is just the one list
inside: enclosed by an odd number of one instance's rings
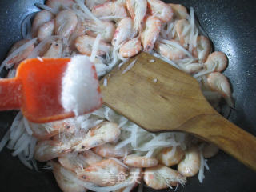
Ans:
{"label": "all the stir-fried prawns and white shreds in the dark wok", "polygon": [[[146,51],[196,78],[216,110],[222,98],[233,106],[230,82],[222,74],[226,54],[212,53],[192,7],[188,12],[182,5],[160,0],[47,0],[37,6],[42,10],[22,22],[23,39],[2,62],[0,70],[10,69],[7,78],[14,77],[26,58],[79,54],[94,61],[102,78]],[[188,134],[149,133],[106,106],[45,124],[28,122],[19,112],[0,150],[7,142],[30,169],[37,169],[35,160],[47,162],[64,192],[127,192],[137,185],[142,189],[143,181],[160,190],[185,185],[196,174],[202,182],[204,167],[208,168],[205,158],[218,153],[218,147]]]}

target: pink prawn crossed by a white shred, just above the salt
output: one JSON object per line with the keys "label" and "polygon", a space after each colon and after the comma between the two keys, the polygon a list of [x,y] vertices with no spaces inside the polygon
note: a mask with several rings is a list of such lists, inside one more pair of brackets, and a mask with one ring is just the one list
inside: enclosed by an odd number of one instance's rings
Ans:
{"label": "pink prawn crossed by a white shred, just above the salt", "polygon": [[[74,42],[74,46],[78,49],[81,54],[86,54],[90,56],[92,52],[92,47],[94,45],[95,38],[90,37],[88,35],[82,35],[76,38]],[[110,53],[111,47],[106,42],[100,41],[98,46],[98,55],[103,55],[106,53]]]}

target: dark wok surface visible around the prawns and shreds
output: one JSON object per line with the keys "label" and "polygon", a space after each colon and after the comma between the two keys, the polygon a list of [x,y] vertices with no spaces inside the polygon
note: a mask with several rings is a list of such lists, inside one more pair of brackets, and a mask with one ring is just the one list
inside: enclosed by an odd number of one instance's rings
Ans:
{"label": "dark wok surface visible around the prawns and shreds", "polygon": [[[43,0],[0,1],[0,62],[10,46],[21,38],[22,19],[38,9],[35,2]],[[235,109],[229,120],[256,135],[256,2],[254,0],[181,0],[166,1],[193,6],[202,27],[209,34],[215,50],[229,58],[225,74],[234,90]],[[5,71],[2,72],[5,75]],[[14,112],[0,113],[0,138],[14,118]],[[206,127],[207,128],[207,127]],[[256,155],[256,154],[255,154]],[[255,191],[256,173],[223,153],[209,159],[203,184],[198,178],[189,178],[185,187],[177,191]],[[13,158],[10,150],[0,153],[0,191],[60,191],[50,171],[29,170]],[[144,191],[154,191],[145,188]],[[164,191],[164,190],[162,190]],[[169,191],[169,190],[168,190]]]}

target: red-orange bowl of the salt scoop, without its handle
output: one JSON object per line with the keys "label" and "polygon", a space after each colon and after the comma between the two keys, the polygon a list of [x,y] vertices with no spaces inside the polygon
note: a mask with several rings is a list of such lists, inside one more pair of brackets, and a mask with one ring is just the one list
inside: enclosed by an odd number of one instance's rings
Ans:
{"label": "red-orange bowl of the salt scoop, without its handle", "polygon": [[33,122],[68,118],[60,102],[62,77],[70,58],[32,58],[22,62],[17,78],[22,79],[22,113]]}

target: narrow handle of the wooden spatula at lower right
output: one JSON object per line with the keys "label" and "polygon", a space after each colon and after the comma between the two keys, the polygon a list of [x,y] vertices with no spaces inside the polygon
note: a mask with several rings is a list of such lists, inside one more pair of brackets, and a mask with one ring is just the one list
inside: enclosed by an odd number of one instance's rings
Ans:
{"label": "narrow handle of the wooden spatula at lower right", "polygon": [[240,162],[256,170],[256,138],[218,114],[190,119],[179,130],[206,138]]}

